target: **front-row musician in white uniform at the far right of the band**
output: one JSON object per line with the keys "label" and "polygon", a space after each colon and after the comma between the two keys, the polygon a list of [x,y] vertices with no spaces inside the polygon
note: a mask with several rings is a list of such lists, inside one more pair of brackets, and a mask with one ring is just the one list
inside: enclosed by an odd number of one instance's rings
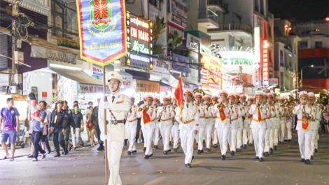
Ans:
{"label": "front-row musician in white uniform at the far right of the band", "polygon": [[307,100],[309,99],[309,95],[306,91],[300,92],[300,104],[298,104],[295,109],[293,109],[293,114],[297,114],[297,134],[298,134],[298,144],[300,145],[300,156],[302,159],[300,162],[304,162],[305,164],[311,164],[309,159],[311,158],[311,137],[312,130],[311,128],[311,120],[315,118],[315,107],[308,105]]}

